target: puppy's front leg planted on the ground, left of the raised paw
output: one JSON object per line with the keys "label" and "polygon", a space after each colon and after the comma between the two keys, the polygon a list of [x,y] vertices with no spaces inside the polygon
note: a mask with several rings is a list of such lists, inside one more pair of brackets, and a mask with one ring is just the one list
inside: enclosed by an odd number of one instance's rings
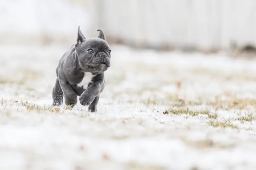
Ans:
{"label": "puppy's front leg planted on the ground, left of the raised paw", "polygon": [[72,88],[70,83],[68,83],[65,80],[60,80],[60,85],[61,85],[61,89],[62,89],[63,94],[64,94],[65,104],[67,106],[74,107],[75,104],[77,103],[77,94],[76,94],[76,92],[74,91],[74,89]]}

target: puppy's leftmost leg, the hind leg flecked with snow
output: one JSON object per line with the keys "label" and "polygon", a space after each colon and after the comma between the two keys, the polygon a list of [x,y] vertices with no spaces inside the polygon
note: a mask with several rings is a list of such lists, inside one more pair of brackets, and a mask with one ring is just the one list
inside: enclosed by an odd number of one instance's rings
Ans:
{"label": "puppy's leftmost leg, the hind leg flecked with snow", "polygon": [[61,89],[58,78],[52,91],[53,104],[52,106],[60,106],[63,103],[63,91]]}

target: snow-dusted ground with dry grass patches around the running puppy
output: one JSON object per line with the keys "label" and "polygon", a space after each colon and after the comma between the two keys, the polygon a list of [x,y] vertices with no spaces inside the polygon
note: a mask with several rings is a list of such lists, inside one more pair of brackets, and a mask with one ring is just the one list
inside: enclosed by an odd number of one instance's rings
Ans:
{"label": "snow-dusted ground with dry grass patches around the running puppy", "polygon": [[0,47],[1,170],[256,169],[256,60],[112,46],[90,113],[49,108],[68,48]]}

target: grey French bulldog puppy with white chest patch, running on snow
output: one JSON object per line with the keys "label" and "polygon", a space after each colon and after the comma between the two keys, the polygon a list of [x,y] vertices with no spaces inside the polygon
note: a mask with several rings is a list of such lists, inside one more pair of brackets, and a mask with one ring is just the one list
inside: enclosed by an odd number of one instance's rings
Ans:
{"label": "grey French bulldog puppy with white chest patch, running on snow", "polygon": [[60,106],[63,96],[67,106],[74,107],[77,96],[88,111],[96,112],[100,94],[105,87],[104,72],[110,67],[111,49],[104,33],[98,29],[97,38],[85,38],[80,30],[77,40],[61,57],[56,68],[52,91],[52,106]]}

